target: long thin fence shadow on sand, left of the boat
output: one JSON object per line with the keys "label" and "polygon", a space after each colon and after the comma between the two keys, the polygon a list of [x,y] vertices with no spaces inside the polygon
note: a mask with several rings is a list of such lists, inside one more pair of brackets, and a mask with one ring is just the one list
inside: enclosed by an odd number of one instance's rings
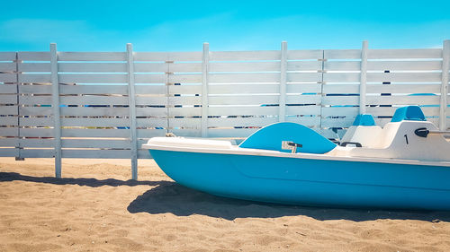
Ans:
{"label": "long thin fence shadow on sand, left of the boat", "polygon": [[0,182],[7,181],[26,181],[35,183],[49,183],[54,185],[78,185],[86,187],[136,187],[136,186],[157,186],[164,181],[136,181],[136,180],[119,180],[114,178],[96,179],[96,178],[54,178],[54,177],[32,177],[22,175],[16,172],[0,172]]}

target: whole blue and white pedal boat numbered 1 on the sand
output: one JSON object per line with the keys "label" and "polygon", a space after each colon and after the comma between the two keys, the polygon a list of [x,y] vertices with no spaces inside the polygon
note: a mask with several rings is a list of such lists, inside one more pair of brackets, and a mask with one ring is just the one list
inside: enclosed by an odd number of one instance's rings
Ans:
{"label": "whole blue and white pedal boat numbered 1 on the sand", "polygon": [[[177,183],[216,196],[279,204],[450,210],[450,143],[419,107],[383,128],[360,115],[342,145],[275,123],[244,142],[154,137],[143,144]],[[356,142],[357,141],[357,142]]]}

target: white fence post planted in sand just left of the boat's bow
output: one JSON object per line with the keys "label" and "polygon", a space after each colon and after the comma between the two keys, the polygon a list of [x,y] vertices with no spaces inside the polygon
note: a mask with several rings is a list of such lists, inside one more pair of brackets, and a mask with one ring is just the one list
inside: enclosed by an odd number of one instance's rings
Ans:
{"label": "white fence post planted in sand just left of the boat's bow", "polygon": [[133,46],[127,44],[128,104],[130,107],[131,179],[138,180],[138,140],[136,134],[136,91],[134,87]]}

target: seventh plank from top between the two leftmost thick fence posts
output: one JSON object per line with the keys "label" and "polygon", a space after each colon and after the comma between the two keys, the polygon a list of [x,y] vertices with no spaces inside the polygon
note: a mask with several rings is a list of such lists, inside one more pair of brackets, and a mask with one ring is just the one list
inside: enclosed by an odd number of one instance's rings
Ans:
{"label": "seventh plank from top between the two leftmost thick fence posts", "polygon": [[129,118],[61,118],[61,126],[125,127]]}

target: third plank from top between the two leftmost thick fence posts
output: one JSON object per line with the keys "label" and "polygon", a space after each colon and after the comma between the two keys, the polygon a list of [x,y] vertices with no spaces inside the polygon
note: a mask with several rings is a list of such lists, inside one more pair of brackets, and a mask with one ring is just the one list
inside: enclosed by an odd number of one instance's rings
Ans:
{"label": "third plank from top between the two leftmost thick fence posts", "polygon": [[126,74],[59,74],[59,83],[127,83]]}

